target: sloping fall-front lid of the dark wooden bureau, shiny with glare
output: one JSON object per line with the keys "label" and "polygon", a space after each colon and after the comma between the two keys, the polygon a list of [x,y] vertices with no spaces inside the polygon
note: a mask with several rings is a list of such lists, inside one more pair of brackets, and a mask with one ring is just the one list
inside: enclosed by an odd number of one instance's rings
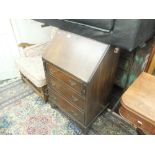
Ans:
{"label": "sloping fall-front lid of the dark wooden bureau, shiny with glare", "polygon": [[107,44],[58,30],[43,58],[88,82],[108,48]]}

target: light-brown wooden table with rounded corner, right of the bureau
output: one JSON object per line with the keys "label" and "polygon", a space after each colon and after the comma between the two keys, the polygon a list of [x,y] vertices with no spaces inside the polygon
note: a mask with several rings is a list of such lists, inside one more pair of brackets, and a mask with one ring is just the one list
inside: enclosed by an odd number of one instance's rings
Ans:
{"label": "light-brown wooden table with rounded corner, right of the bureau", "polygon": [[155,77],[143,72],[123,94],[119,112],[136,128],[155,134]]}

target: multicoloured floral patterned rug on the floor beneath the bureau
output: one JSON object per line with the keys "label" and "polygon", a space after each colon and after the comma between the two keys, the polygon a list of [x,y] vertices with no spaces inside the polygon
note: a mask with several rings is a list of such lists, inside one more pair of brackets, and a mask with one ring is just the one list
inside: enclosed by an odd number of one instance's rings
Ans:
{"label": "multicoloured floral patterned rug on the floor beneath the bureau", "polygon": [[[0,84],[1,135],[80,135],[75,122],[52,109],[21,80]],[[117,114],[106,111],[93,123],[90,135],[131,135],[135,130]]]}

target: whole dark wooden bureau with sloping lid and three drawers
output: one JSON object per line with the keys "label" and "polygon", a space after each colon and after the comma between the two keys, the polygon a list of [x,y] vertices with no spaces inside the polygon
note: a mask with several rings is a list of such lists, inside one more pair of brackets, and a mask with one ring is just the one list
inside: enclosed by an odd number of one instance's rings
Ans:
{"label": "whole dark wooden bureau with sloping lid and three drawers", "polygon": [[50,104],[86,131],[105,107],[118,58],[118,49],[58,30],[43,55]]}

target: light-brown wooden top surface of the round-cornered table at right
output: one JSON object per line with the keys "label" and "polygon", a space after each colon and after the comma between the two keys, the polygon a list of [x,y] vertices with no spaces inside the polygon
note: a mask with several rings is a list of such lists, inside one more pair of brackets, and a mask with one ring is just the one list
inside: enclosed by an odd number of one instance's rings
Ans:
{"label": "light-brown wooden top surface of the round-cornered table at right", "polygon": [[155,123],[155,76],[143,72],[123,94],[122,105]]}

